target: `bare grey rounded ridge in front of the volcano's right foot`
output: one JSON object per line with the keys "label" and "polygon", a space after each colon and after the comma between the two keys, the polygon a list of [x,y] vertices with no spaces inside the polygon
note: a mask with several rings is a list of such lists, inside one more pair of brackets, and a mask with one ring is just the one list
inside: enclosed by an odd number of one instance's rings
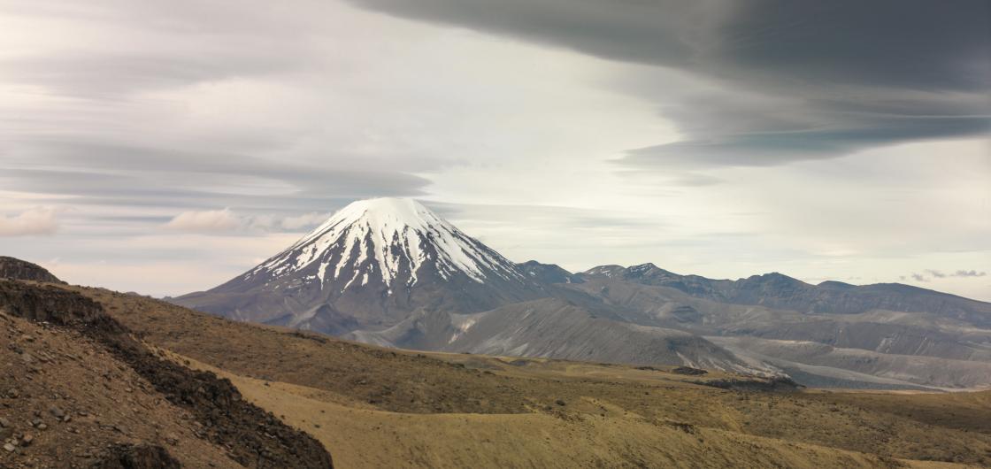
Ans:
{"label": "bare grey rounded ridge in front of the volcano's right foot", "polygon": [[590,310],[559,297],[470,314],[418,313],[382,331],[355,331],[344,337],[419,350],[778,374],[773,367],[738,359],[691,333],[634,324],[608,308]]}

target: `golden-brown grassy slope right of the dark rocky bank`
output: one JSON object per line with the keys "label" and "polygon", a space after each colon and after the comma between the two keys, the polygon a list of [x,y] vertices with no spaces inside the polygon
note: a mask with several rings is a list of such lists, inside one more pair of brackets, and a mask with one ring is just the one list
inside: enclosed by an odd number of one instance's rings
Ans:
{"label": "golden-brown grassy slope right of the dark rocky bank", "polygon": [[80,292],[345,468],[991,464],[987,394],[734,392],[696,383],[719,373],[387,350]]}

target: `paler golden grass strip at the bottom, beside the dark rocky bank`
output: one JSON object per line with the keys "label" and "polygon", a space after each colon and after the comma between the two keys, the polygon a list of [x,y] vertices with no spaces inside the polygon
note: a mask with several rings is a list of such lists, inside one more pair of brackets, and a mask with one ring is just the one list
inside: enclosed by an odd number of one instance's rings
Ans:
{"label": "paler golden grass strip at the bottom, beside the dark rocky bank", "polygon": [[[182,357],[177,357],[182,360]],[[335,464],[363,467],[897,467],[897,461],[815,445],[654,420],[608,403],[585,410],[516,414],[401,413],[341,404],[332,393],[230,379],[252,403],[274,411],[334,449]]]}

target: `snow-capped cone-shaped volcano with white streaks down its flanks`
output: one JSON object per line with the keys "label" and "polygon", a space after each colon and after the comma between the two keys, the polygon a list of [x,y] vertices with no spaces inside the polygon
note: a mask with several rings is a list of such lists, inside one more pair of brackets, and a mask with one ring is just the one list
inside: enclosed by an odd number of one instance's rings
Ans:
{"label": "snow-capped cone-shaped volcano with white streaks down its flanks", "polygon": [[235,319],[342,333],[417,309],[475,312],[544,296],[494,250],[421,203],[359,200],[230,282],[178,302]]}

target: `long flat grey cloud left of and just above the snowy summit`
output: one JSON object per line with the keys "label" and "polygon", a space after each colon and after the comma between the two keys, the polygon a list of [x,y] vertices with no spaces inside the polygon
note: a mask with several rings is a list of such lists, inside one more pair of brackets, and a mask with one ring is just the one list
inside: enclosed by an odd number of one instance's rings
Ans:
{"label": "long flat grey cloud left of and just above the snowy summit", "polygon": [[[71,196],[75,204],[326,210],[356,197],[419,195],[428,180],[341,156],[340,165],[257,156],[93,143],[68,136],[15,142],[0,160],[0,185]],[[44,164],[50,168],[37,168]],[[336,203],[335,203],[336,202]]]}

